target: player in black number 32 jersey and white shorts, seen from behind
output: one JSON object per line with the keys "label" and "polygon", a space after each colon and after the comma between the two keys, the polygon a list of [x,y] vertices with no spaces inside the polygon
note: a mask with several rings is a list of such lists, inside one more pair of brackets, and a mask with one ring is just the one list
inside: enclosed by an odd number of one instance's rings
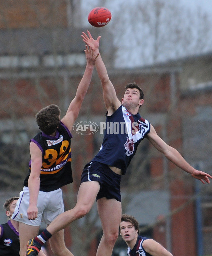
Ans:
{"label": "player in black number 32 jersey and white shorts, seen from behind", "polygon": [[[60,120],[60,109],[53,104],[42,108],[36,114],[36,122],[41,132],[30,140],[30,174],[24,180],[24,188],[12,216],[12,219],[19,221],[20,256],[26,255],[28,240],[38,234],[41,219],[49,225],[64,212],[61,187],[72,183],[71,130],[87,93],[98,57],[98,54],[94,56],[94,51],[87,45],[84,51],[86,68],[66,115]],[[49,238],[47,232],[46,237]],[[72,256],[65,246],[63,229],[55,232],[49,243],[55,255]]]}

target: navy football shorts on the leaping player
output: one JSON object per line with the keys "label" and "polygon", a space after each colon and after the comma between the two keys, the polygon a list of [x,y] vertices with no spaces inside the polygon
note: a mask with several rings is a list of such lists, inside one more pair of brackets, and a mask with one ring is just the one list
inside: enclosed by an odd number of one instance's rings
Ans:
{"label": "navy football shorts on the leaping player", "polygon": [[81,183],[86,181],[98,181],[100,184],[99,193],[96,200],[106,197],[107,199],[116,199],[121,202],[120,182],[121,175],[113,172],[110,167],[104,163],[90,162],[84,167]]}

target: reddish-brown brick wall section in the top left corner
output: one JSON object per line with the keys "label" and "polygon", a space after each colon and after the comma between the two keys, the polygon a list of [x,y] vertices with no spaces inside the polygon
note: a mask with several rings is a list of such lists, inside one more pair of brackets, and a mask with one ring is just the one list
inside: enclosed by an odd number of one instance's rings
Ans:
{"label": "reddish-brown brick wall section in the top left corner", "polygon": [[1,1],[0,29],[66,27],[66,0]]}

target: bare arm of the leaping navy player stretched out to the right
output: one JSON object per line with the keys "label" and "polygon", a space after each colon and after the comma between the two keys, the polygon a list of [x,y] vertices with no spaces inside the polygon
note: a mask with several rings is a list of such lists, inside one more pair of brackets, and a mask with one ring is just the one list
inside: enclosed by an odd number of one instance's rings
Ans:
{"label": "bare arm of the leaping navy player stretched out to the right", "polygon": [[152,125],[150,132],[147,135],[147,139],[157,150],[162,152],[167,159],[169,159],[172,163],[181,168],[183,171],[190,173],[192,177],[199,179],[203,184],[205,184],[205,182],[210,183],[209,178],[212,178],[212,176],[208,173],[198,171],[190,166],[189,163],[185,161],[185,159],[181,156],[181,154],[179,154],[176,149],[167,145],[165,141],[157,135]]}

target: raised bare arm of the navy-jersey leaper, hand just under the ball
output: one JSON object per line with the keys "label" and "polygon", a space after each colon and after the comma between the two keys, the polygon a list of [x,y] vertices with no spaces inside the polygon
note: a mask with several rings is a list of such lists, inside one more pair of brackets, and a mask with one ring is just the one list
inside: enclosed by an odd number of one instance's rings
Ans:
{"label": "raised bare arm of the navy-jersey leaper, hand just under the ball", "polygon": [[82,38],[84,43],[87,45],[90,45],[95,51],[95,54],[99,54],[98,59],[96,60],[96,71],[98,73],[98,76],[100,78],[102,89],[103,89],[103,98],[105,102],[105,106],[108,111],[108,115],[112,115],[118,107],[120,107],[121,102],[117,99],[116,91],[113,87],[113,84],[111,83],[108,74],[107,69],[105,67],[105,64],[101,58],[101,55],[99,53],[99,40],[100,36],[94,40],[90,32],[87,30],[87,33],[82,32]]}

